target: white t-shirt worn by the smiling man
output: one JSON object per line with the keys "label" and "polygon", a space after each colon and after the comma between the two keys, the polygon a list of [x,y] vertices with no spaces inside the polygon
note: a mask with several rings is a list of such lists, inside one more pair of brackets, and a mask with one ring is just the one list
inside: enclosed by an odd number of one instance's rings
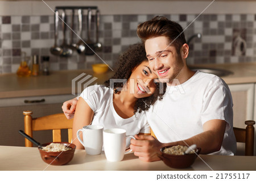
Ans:
{"label": "white t-shirt worn by the smiling man", "polygon": [[212,154],[234,155],[233,102],[228,85],[213,74],[197,71],[188,81],[167,86],[162,100],[146,112],[148,123],[160,142],[188,139],[203,132],[209,120],[226,121],[221,149]]}

